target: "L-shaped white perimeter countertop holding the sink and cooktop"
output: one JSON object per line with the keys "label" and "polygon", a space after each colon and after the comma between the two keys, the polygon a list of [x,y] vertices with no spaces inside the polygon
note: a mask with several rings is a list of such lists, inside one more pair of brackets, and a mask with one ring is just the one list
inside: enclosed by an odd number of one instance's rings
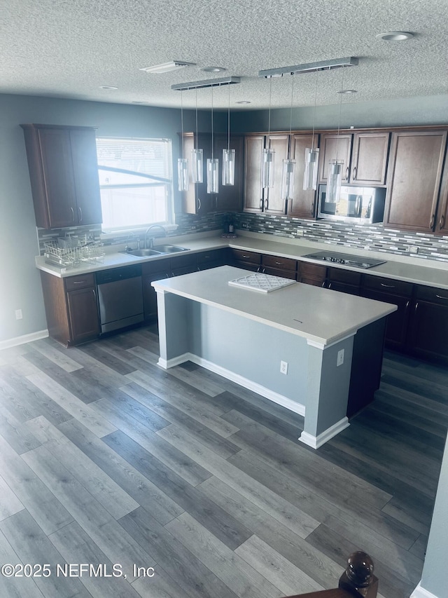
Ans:
{"label": "L-shaped white perimeter countertop holding the sink and cooktop", "polygon": [[[197,236],[179,236],[164,239],[165,242],[188,247],[190,252],[202,252],[220,247],[233,247],[235,249],[255,251],[280,257],[290,257],[292,259],[302,259],[314,264],[329,265],[325,262],[303,258],[304,255],[318,251],[335,251],[339,253],[354,254],[364,257],[374,257],[386,259],[385,264],[379,264],[373,268],[364,270],[343,266],[340,264],[331,264],[331,267],[353,270],[367,275],[383,276],[384,278],[395,278],[405,280],[409,283],[428,285],[448,289],[448,264],[442,261],[423,260],[416,257],[407,257],[379,252],[369,252],[357,250],[353,247],[340,247],[339,245],[328,245],[325,243],[311,243],[307,241],[297,241],[283,237],[274,237],[272,235],[262,235],[260,233],[243,233],[237,238],[221,238],[219,234],[211,235],[199,234]],[[176,255],[185,255],[185,252],[165,254],[158,257],[139,258],[128,254],[120,253],[116,247],[106,247],[108,253],[102,264],[87,264],[80,268],[67,269],[62,271],[57,266],[45,264],[43,256],[36,257],[36,267],[40,270],[64,278],[65,276],[76,276],[87,272],[95,272],[116,268],[118,266],[128,266],[130,264],[141,264],[144,261],[154,261],[168,259]],[[420,265],[421,264],[421,265]]]}

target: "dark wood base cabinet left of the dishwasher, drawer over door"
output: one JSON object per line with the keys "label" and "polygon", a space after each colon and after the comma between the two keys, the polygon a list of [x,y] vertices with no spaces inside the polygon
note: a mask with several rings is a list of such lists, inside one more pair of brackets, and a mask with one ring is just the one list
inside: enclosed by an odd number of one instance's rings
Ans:
{"label": "dark wood base cabinet left of the dishwasher, drawer over door", "polygon": [[99,315],[94,275],[58,278],[41,271],[48,334],[65,346],[96,339]]}

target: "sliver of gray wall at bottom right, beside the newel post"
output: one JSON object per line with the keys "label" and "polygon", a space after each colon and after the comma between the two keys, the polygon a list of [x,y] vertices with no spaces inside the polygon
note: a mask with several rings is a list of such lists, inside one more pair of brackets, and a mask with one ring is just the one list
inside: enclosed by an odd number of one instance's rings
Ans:
{"label": "sliver of gray wall at bottom right, beside the newel post", "polygon": [[438,598],[447,595],[448,588],[448,442],[445,444],[439,485],[431,522],[421,587]]}

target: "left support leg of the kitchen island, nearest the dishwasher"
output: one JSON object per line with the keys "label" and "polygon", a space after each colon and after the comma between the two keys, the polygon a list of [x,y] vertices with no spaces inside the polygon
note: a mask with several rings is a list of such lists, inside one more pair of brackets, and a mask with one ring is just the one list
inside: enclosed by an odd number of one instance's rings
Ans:
{"label": "left support leg of the kitchen island, nearest the dishwasher", "polygon": [[165,369],[188,361],[190,351],[191,301],[157,290],[160,359]]}

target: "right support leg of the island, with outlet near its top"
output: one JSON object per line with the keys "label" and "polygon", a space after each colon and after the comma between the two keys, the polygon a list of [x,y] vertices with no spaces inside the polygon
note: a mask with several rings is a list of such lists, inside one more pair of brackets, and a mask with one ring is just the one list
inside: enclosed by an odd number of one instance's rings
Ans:
{"label": "right support leg of the island, with outlet near its top", "polygon": [[[353,336],[330,346],[308,341],[307,404],[299,440],[318,449],[349,426],[349,398]],[[344,351],[344,362],[338,355]]]}

